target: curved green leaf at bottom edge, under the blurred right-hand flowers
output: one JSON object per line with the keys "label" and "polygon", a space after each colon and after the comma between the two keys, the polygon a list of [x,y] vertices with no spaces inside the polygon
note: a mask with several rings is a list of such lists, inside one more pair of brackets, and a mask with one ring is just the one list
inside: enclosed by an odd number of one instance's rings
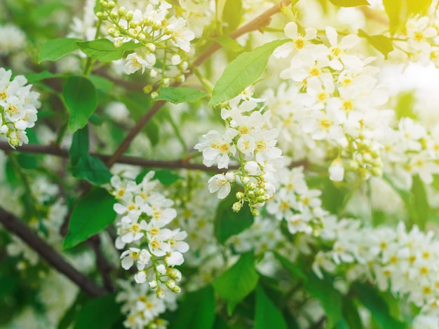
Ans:
{"label": "curved green leaf at bottom edge, under the blurred right-hand flowers", "polygon": [[305,287],[325,310],[327,316],[325,328],[332,328],[342,318],[342,295],[335,290],[330,279],[318,279],[313,273],[308,275]]}

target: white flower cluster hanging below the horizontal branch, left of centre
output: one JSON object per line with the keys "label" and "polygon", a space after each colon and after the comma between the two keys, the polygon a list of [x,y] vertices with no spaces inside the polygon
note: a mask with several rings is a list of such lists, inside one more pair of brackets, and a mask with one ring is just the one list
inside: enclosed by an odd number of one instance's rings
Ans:
{"label": "white flower cluster hanging below the horizontal branch, left of centre", "polygon": [[[158,181],[148,172],[140,184],[113,176],[112,194],[118,202],[114,211],[121,215],[117,223],[116,248],[123,249],[121,265],[124,269],[137,268],[137,283],[148,282],[158,298],[165,290],[180,292],[177,282],[182,274],[175,265],[184,262],[183,253],[189,245],[183,241],[187,233],[179,228],[165,228],[177,216],[173,201],[154,191]],[[128,244],[128,248],[126,245]]]}

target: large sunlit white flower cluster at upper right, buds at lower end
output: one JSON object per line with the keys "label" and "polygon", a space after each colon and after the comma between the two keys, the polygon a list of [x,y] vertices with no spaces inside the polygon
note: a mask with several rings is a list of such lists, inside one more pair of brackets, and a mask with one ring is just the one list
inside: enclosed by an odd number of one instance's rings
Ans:
{"label": "large sunlit white flower cluster at upper right, buds at lower end", "polygon": [[353,50],[358,36],[349,34],[339,41],[332,27],[325,32],[328,45],[319,41],[316,29],[309,27],[302,35],[295,22],[285,26],[291,41],[273,55],[292,57],[281,78],[291,80],[291,89],[296,90],[296,104],[290,111],[302,114],[296,118],[288,112],[282,115],[286,120],[297,120],[313,143],[327,143],[335,149],[335,162],[330,166],[333,181],[344,179],[345,167],[363,179],[371,174],[379,176],[383,164],[377,139],[393,115],[393,111],[378,109],[388,99],[376,85],[374,76],[379,70],[369,65],[373,57],[363,58]]}

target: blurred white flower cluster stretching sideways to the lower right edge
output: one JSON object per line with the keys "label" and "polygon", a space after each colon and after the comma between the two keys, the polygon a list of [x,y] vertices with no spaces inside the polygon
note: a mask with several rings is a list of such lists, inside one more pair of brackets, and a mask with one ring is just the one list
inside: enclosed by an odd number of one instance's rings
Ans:
{"label": "blurred white flower cluster stretching sideways to the lower right edge", "polygon": [[417,226],[407,232],[402,222],[394,230],[327,218],[321,237],[333,247],[317,253],[313,270],[318,276],[322,268],[338,270],[349,281],[366,279],[380,290],[406,295],[424,311],[439,306],[439,241],[433,240],[433,232],[421,232]]}

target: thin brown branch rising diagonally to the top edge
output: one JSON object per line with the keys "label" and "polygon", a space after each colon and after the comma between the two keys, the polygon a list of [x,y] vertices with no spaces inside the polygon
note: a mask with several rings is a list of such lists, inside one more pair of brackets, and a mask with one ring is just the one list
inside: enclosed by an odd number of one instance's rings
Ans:
{"label": "thin brown branch rising diagonally to the top edge", "polygon": [[[277,3],[275,6],[269,8],[269,10],[266,10],[261,15],[257,16],[257,18],[251,20],[248,22],[248,24],[244,25],[240,29],[237,29],[232,34],[230,34],[230,38],[238,38],[239,36],[242,36],[243,34],[246,34],[250,31],[255,31],[259,29],[259,27],[262,27],[269,22],[269,19],[272,15],[279,13],[281,11],[281,8],[283,6],[288,5],[290,3],[290,0],[282,0],[281,2]],[[203,62],[205,62],[206,59],[208,59],[214,52],[219,50],[221,48],[221,45],[219,43],[213,43],[203,54],[201,54],[198,59],[195,60],[195,62],[192,64],[192,66],[196,67]],[[185,74],[186,78],[190,76],[193,73],[193,71],[189,71]],[[178,87],[181,85],[179,82],[173,83],[173,87]],[[131,142],[136,137],[136,135],[142,130],[142,128],[147,125],[149,120],[165,105],[166,102],[164,101],[158,101],[154,103],[154,105],[149,109],[147,113],[145,113],[136,123],[136,125],[133,127],[132,130],[128,133],[128,135],[123,139],[121,142],[121,145],[119,145],[119,148],[116,149],[114,152],[114,155],[107,161],[107,166],[112,167],[114,163],[118,162],[119,158],[121,158],[121,155],[128,150],[130,147]]]}

